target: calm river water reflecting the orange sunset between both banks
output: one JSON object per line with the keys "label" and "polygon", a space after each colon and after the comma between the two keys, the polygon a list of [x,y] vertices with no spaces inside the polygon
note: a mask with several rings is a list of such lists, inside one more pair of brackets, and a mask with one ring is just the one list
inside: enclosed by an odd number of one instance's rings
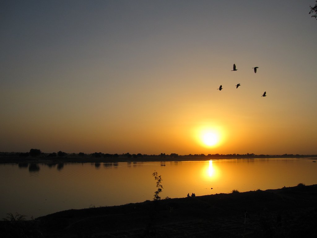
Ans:
{"label": "calm river water reflecting the orange sunset between both banks", "polygon": [[317,163],[313,161],[279,158],[0,164],[0,219],[7,213],[18,212],[30,219],[67,209],[152,200],[156,190],[154,170],[162,175],[162,198],[317,184]]}

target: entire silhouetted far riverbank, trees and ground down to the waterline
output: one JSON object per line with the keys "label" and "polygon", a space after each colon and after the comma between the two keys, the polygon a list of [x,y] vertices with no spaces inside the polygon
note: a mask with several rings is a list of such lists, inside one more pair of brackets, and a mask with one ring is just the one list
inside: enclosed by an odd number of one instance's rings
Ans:
{"label": "entire silhouetted far riverbank, trees and ground down to the waterline", "polygon": [[145,155],[145,154],[104,154],[104,153],[92,153],[92,154],[68,154],[62,151],[57,153],[42,153],[39,149],[31,149],[30,152],[0,152],[0,163],[84,163],[84,162],[141,162],[141,161],[205,161],[205,160],[217,160],[217,159],[240,159],[240,158],[317,158],[317,155],[255,155],[249,154],[189,154],[178,155],[171,153],[167,155],[161,153],[160,155]]}

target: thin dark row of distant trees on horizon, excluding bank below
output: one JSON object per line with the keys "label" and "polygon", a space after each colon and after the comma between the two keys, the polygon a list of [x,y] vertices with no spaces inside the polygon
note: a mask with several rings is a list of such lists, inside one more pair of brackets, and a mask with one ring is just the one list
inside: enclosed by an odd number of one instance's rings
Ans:
{"label": "thin dark row of distant trees on horizon, excluding bank below", "polygon": [[176,153],[171,153],[170,155],[161,153],[159,155],[147,155],[147,154],[108,154],[108,153],[101,153],[101,152],[94,152],[92,154],[85,154],[80,152],[76,153],[66,153],[63,151],[53,152],[53,153],[43,153],[40,149],[30,149],[29,152],[0,152],[0,157],[64,157],[66,158],[74,158],[74,157],[93,157],[93,158],[126,158],[126,159],[142,159],[142,158],[178,158],[178,159],[186,159],[186,158],[302,158],[302,157],[317,157],[317,155],[299,155],[299,154],[283,154],[283,155],[256,155],[254,153],[247,153],[247,154],[189,154],[189,155],[178,155]]}

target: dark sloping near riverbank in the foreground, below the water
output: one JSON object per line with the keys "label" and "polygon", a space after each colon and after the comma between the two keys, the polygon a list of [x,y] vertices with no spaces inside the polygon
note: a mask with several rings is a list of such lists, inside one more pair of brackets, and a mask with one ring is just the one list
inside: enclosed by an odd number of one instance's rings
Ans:
{"label": "dark sloping near riverbank in the foreground, below the water", "polygon": [[317,185],[146,201],[1,221],[0,237],[317,237],[316,202]]}

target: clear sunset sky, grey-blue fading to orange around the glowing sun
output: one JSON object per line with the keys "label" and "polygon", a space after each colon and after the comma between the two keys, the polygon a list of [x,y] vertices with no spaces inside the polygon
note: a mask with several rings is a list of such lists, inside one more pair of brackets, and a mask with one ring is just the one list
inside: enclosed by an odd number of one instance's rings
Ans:
{"label": "clear sunset sky, grey-blue fading to orange around the glowing sun", "polygon": [[317,154],[314,4],[1,1],[0,151]]}

